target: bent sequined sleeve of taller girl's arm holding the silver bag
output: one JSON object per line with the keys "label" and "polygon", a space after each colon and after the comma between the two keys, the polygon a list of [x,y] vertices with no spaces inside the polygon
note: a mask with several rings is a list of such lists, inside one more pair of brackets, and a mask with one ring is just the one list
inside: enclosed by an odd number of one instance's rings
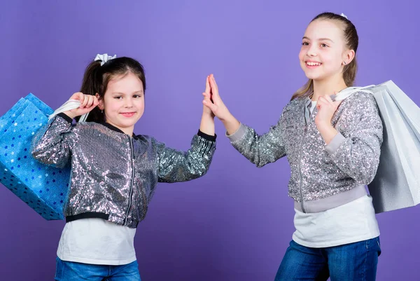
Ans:
{"label": "bent sequined sleeve of taller girl's arm holding the silver bag", "polygon": [[340,170],[370,184],[379,165],[383,125],[374,97],[358,92],[336,125],[339,133],[325,150]]}

